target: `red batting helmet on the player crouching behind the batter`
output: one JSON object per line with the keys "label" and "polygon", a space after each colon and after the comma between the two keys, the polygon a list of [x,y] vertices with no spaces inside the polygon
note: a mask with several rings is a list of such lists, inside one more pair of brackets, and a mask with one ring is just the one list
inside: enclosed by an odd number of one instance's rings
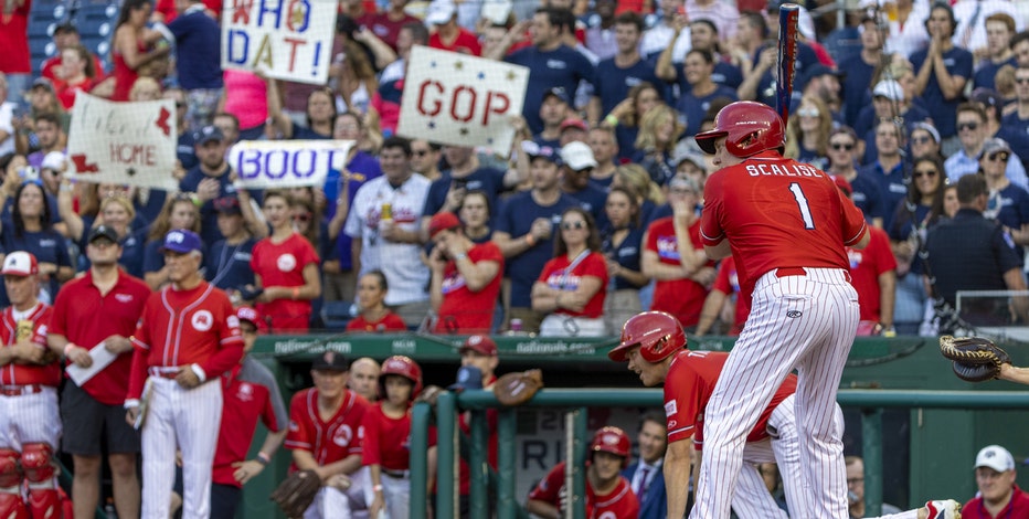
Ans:
{"label": "red batting helmet on the player crouching behind the batter", "polygon": [[639,347],[647,362],[660,362],[686,348],[686,332],[679,319],[665,311],[636,314],[622,327],[622,342],[607,352],[615,362],[625,362],[630,349]]}

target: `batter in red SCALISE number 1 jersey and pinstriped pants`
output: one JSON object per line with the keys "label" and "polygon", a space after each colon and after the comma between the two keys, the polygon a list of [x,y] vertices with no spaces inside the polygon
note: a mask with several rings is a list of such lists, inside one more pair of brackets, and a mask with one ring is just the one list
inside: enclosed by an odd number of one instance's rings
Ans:
{"label": "batter in red SCALISE number 1 jersey and pinstriped pants", "polygon": [[[691,517],[728,518],[742,439],[776,388],[799,371],[796,393],[804,488],[811,516],[847,517],[836,392],[858,327],[845,246],[869,241],[861,211],[828,174],[783,158],[786,125],[761,103],[722,108],[697,144],[721,169],[704,184],[700,233],[712,260],[735,258],[751,314],[711,395]],[[671,511],[671,510],[670,510]]]}

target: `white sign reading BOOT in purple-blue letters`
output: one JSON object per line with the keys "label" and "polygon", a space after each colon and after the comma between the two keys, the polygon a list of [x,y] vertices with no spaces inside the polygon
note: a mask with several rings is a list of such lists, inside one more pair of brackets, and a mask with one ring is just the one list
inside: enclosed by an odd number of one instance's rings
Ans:
{"label": "white sign reading BOOT in purple-blue letters", "polygon": [[343,169],[352,146],[352,140],[244,140],[229,149],[229,163],[247,189],[320,188],[330,169]]}

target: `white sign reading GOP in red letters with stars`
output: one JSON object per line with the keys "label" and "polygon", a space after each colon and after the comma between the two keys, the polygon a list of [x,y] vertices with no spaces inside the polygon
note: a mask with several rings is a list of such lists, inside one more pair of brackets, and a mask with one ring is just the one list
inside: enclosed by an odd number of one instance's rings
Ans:
{"label": "white sign reading GOP in red letters with stars", "polygon": [[510,118],[521,114],[529,68],[456,52],[414,46],[396,134],[507,155]]}

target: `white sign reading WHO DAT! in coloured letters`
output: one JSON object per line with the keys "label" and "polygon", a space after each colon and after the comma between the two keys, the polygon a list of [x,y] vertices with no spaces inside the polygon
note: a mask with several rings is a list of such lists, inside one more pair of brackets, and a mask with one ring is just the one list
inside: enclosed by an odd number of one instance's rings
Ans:
{"label": "white sign reading WHO DAT! in coloured letters", "polygon": [[222,68],[323,85],[336,31],[336,0],[226,0]]}

